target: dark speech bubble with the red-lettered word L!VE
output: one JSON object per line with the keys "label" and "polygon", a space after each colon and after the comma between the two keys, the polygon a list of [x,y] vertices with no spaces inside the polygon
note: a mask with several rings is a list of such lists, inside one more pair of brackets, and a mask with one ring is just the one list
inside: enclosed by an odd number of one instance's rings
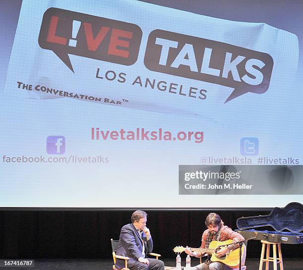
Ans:
{"label": "dark speech bubble with the red-lettered word L!VE", "polygon": [[[73,21],[81,22],[76,37],[72,35]],[[141,39],[142,30],[136,24],[51,7],[43,15],[38,42],[73,71],[68,54],[132,65]],[[76,46],[70,46],[69,40],[76,41]]]}

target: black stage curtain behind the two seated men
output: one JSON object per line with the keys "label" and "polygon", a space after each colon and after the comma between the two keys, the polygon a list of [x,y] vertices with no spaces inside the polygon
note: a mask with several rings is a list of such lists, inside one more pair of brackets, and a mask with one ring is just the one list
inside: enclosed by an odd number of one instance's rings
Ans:
{"label": "black stage curtain behind the two seated men", "polygon": [[[110,259],[110,238],[118,239],[133,211],[0,211],[1,259]],[[199,247],[204,220],[211,212],[152,211],[148,224],[154,252],[175,258],[178,245]],[[267,215],[269,211],[216,211],[225,224],[236,228],[241,216]],[[266,228],[272,230],[270,227]],[[261,244],[252,240],[248,258],[260,255]],[[283,245],[285,258],[302,258],[302,245]]]}

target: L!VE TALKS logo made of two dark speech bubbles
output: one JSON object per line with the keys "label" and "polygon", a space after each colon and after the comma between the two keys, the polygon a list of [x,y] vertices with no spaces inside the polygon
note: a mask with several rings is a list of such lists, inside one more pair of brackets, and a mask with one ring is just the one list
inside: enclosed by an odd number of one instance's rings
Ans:
{"label": "L!VE TALKS logo made of two dark speech bubbles", "polygon": [[[72,71],[68,54],[132,65],[142,34],[136,24],[49,8],[39,45],[53,51]],[[144,64],[152,71],[234,88],[226,103],[248,92],[266,92],[273,59],[266,53],[157,29],[149,34]]]}

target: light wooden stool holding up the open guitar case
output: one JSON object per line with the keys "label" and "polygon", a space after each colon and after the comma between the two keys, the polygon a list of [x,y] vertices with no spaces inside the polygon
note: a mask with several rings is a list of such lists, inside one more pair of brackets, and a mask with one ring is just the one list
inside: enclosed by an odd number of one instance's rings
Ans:
{"label": "light wooden stool holding up the open guitar case", "polygon": [[[283,270],[281,244],[267,242],[264,240],[261,240],[261,243],[262,243],[262,251],[261,251],[259,270],[262,270],[264,262],[265,262],[265,270],[269,269],[269,262],[273,262],[274,270],[277,270],[277,264],[280,264],[280,270]],[[272,245],[273,257],[269,257],[270,245]],[[277,245],[278,245],[278,255],[279,255],[278,258],[277,258]],[[266,246],[266,259],[264,259],[265,246]]]}

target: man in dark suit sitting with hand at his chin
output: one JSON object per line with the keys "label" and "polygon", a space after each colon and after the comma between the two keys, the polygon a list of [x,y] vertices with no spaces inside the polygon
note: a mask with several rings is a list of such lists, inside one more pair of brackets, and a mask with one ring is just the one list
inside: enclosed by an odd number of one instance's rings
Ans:
{"label": "man in dark suit sitting with hand at his chin", "polygon": [[[147,258],[152,252],[152,235],[146,226],[147,214],[137,210],[132,215],[132,223],[122,227],[117,255],[129,257],[127,267],[130,270],[164,270],[164,263],[160,260]],[[117,259],[117,269],[124,267],[124,260]]]}

